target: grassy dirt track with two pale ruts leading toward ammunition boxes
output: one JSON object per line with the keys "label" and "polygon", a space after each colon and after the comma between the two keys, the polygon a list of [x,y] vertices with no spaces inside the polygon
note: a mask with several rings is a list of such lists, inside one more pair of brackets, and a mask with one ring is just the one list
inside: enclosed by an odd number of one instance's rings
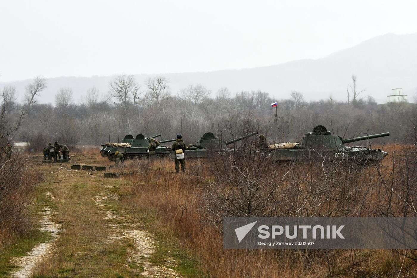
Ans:
{"label": "grassy dirt track with two pale ruts leading toward ammunition boxes", "polygon": [[[28,161],[46,175],[47,181],[40,188],[45,188],[42,194],[54,208],[43,208],[38,225],[40,230],[50,233],[51,240],[36,245],[24,257],[13,258],[18,268],[10,273],[11,277],[55,275],[55,268],[68,271],[68,276],[81,277],[102,273],[103,277],[118,275],[114,273],[123,273],[124,277],[180,277],[172,269],[173,258],[169,258],[169,265],[151,263],[155,240],[142,223],[109,205],[119,201],[117,188],[123,183],[121,180],[104,179],[99,171],[71,170],[70,163],[42,164],[40,160],[40,156],[31,156]],[[85,161],[90,165],[111,163],[97,155],[74,155],[71,163]],[[113,258],[116,251],[120,255]],[[97,262],[88,261],[91,257]],[[75,263],[71,263],[74,258]]]}

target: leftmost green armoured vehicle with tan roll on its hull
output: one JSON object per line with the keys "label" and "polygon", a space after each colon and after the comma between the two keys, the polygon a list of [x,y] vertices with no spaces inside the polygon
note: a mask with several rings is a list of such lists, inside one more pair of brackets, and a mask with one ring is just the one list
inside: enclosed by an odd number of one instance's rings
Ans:
{"label": "leftmost green armoured vehicle with tan roll on its hull", "polygon": [[[126,142],[122,143],[129,143],[131,145],[130,148],[121,148],[121,147],[113,147],[110,150],[108,150],[107,157],[109,160],[114,161],[116,158],[114,157],[114,154],[119,151],[120,153],[123,153],[125,159],[139,159],[143,156],[149,155],[148,145],[149,145],[149,139],[156,138],[158,136],[161,136],[161,134],[145,138],[143,134],[136,135],[136,138],[130,138],[130,136],[126,135],[128,138],[126,139]],[[132,136],[133,137],[133,136]],[[125,137],[126,138],[126,137]],[[167,143],[175,141],[176,139],[171,140],[164,140],[160,141],[159,143]],[[158,156],[167,156],[172,152],[171,147],[159,145],[156,148],[156,155]]]}

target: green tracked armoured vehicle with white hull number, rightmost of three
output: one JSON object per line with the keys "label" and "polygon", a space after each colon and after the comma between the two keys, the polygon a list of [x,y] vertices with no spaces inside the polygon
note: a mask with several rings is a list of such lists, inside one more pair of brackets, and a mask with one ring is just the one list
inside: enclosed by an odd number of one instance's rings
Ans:
{"label": "green tracked armoured vehicle with white hull number, rightmost of three", "polygon": [[[355,162],[381,161],[388,153],[380,149],[371,149],[361,146],[349,147],[345,144],[360,140],[368,140],[389,136],[389,133],[367,135],[349,139],[343,139],[333,135],[323,125],[317,125],[312,132],[304,135],[301,145],[299,143],[283,143],[269,146],[269,154],[273,161],[303,160],[314,156],[330,157],[341,160],[353,160]],[[284,145],[290,146],[289,148]]]}

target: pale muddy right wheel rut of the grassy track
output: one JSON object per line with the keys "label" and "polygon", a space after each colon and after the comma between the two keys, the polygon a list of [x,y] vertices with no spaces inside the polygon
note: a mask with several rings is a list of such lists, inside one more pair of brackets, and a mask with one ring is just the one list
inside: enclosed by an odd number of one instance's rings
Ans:
{"label": "pale muddy right wheel rut of the grassy track", "polygon": [[[153,265],[149,259],[155,252],[155,241],[148,231],[144,230],[140,223],[135,221],[127,214],[109,210],[106,200],[117,200],[117,196],[112,194],[112,185],[106,185],[106,191],[95,196],[94,201],[100,211],[108,220],[111,227],[109,240],[128,238],[133,243],[133,248],[128,250],[130,261],[137,262],[143,267],[143,271],[138,272],[145,277],[181,277],[175,270],[167,266]],[[175,261],[170,258],[170,263]]]}

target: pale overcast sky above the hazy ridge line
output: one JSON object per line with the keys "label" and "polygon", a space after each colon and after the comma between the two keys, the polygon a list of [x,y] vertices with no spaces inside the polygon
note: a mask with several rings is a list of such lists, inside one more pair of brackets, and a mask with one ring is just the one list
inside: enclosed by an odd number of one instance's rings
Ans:
{"label": "pale overcast sky above the hazy ridge line", "polygon": [[417,1],[0,2],[0,81],[253,68],[417,32]]}

